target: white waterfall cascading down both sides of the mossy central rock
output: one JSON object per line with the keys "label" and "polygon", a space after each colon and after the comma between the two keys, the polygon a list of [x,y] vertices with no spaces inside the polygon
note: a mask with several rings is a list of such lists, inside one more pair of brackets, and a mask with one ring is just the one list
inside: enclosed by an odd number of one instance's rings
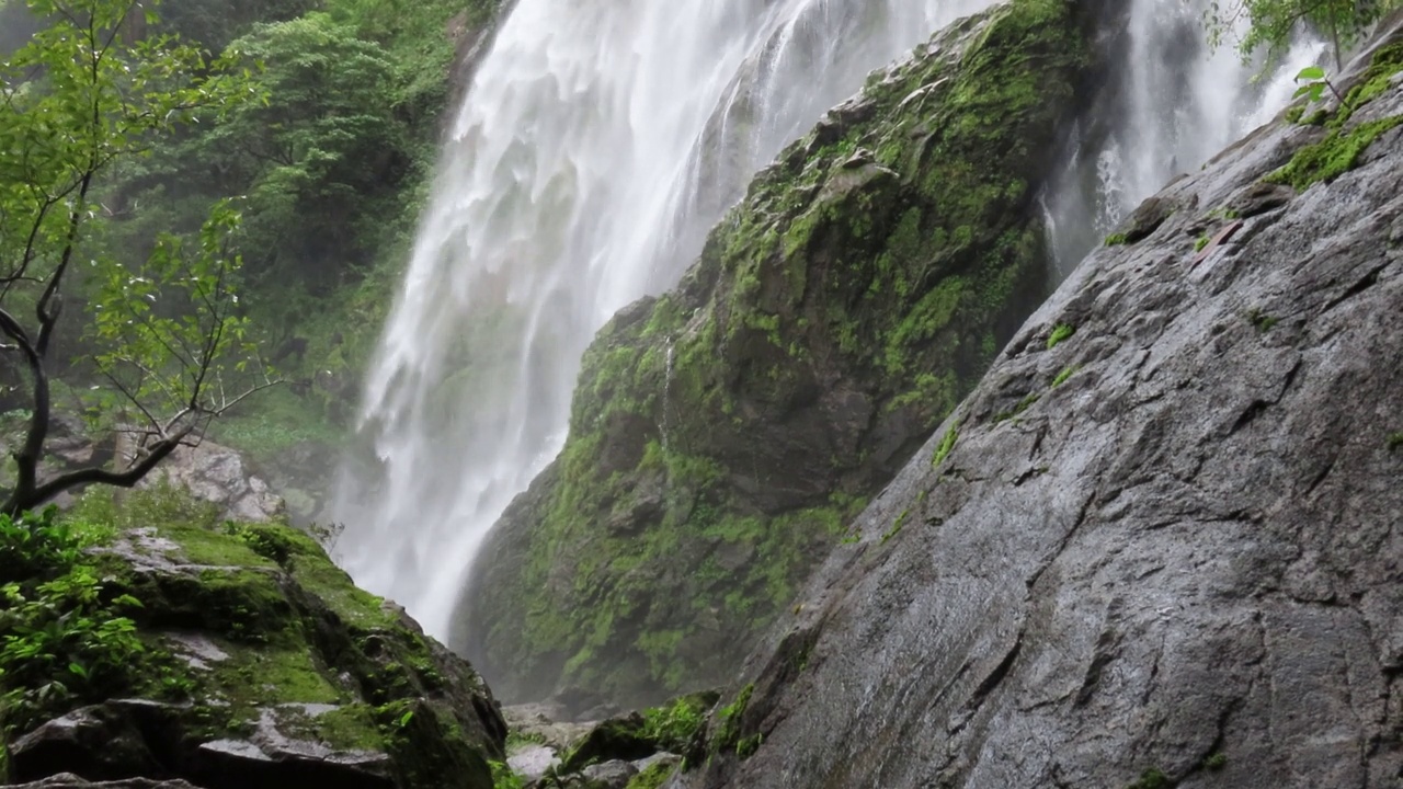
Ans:
{"label": "white waterfall cascading down both sides of the mossy central rock", "polygon": [[[871,69],[991,4],[519,0],[453,125],[366,382],[334,511],[342,564],[442,635],[487,531],[560,451],[592,334],[672,285],[753,171]],[[1056,237],[1068,257],[1172,157],[1197,166],[1253,119],[1235,56],[1186,37],[1197,11],[1132,6],[1128,111],[1079,136],[1045,198],[1075,229]]]}

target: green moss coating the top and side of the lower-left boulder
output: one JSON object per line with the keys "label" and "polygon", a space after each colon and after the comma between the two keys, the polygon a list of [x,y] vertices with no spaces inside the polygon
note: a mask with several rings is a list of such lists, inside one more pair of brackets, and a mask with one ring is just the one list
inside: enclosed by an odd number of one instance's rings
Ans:
{"label": "green moss coating the top and side of the lower-left boulder", "polygon": [[[173,490],[133,491],[121,504],[93,497],[66,515],[74,533],[93,535],[93,550],[70,560],[91,562],[79,569],[107,584],[98,597],[133,601],[130,619],[102,621],[136,640],[112,663],[118,674],[98,696],[53,695],[62,706],[36,710],[41,717],[107,698],[174,701],[182,703],[168,708],[171,726],[201,743],[248,736],[274,715],[288,736],[390,754],[398,786],[442,786],[450,776],[455,785],[488,786],[484,754],[495,745],[464,734],[459,713],[436,695],[445,679],[422,636],[383,612],[377,598],[355,591],[344,573],[328,573],[334,566],[307,535],[276,524],[209,525],[201,507],[178,498]],[[80,525],[104,514],[115,524],[140,524],[142,539]],[[116,538],[121,550],[105,545]],[[133,550],[168,567],[136,571]],[[188,649],[188,633],[212,647],[198,661],[177,657]],[[22,677],[8,672],[0,682],[11,678]],[[476,722],[470,709],[462,715]],[[7,712],[7,737],[36,720]]]}

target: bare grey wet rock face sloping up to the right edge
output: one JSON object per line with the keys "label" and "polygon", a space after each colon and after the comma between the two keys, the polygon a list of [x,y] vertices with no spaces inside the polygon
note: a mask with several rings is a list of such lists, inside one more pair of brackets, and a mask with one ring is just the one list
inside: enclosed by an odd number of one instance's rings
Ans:
{"label": "bare grey wet rock face sloping up to the right edge", "polygon": [[690,786],[1397,782],[1392,41],[1362,105],[1177,181],[1024,324],[752,658],[758,748]]}

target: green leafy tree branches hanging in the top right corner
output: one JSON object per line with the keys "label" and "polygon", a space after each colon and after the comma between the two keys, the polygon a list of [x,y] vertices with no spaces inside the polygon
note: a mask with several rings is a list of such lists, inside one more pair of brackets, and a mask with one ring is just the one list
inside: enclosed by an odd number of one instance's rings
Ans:
{"label": "green leafy tree branches hanging in the top right corner", "polygon": [[1400,0],[1215,0],[1208,11],[1208,32],[1218,45],[1246,17],[1250,27],[1237,48],[1244,58],[1266,48],[1268,62],[1275,62],[1296,32],[1310,28],[1330,39],[1336,70],[1341,70],[1344,53],[1360,35],[1400,4]]}

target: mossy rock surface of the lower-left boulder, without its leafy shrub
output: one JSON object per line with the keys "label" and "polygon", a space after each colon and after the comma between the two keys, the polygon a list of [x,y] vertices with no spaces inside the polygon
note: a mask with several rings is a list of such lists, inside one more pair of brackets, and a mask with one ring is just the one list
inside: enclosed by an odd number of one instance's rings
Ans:
{"label": "mossy rock surface of the lower-left boulder, without its leafy shrub", "polygon": [[[156,496],[171,493],[126,510]],[[108,684],[119,695],[46,708],[63,723],[7,716],[10,778],[492,786],[506,730],[481,678],[306,533],[157,518],[109,529],[77,564],[139,602],[142,646]]]}

